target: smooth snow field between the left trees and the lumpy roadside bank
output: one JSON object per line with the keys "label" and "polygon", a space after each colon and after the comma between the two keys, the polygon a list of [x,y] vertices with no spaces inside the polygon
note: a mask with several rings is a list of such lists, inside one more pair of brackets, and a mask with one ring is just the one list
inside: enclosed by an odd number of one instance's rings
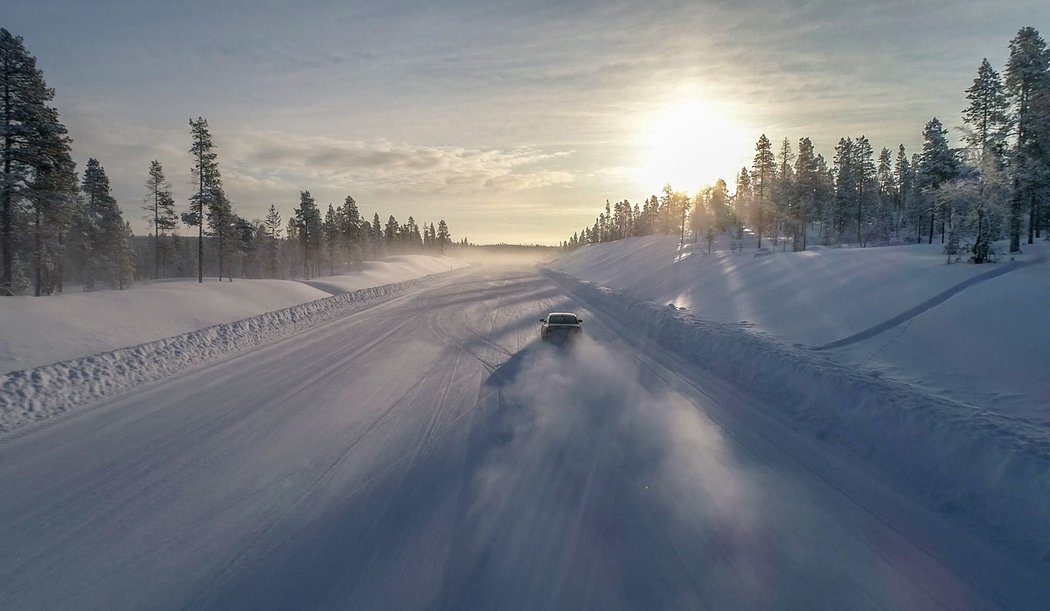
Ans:
{"label": "smooth snow field between the left trees and the lumpy roadside bank", "polygon": [[392,256],[359,272],[312,280],[178,279],[127,291],[71,290],[0,301],[0,374],[138,345],[322,299],[447,272],[450,257]]}

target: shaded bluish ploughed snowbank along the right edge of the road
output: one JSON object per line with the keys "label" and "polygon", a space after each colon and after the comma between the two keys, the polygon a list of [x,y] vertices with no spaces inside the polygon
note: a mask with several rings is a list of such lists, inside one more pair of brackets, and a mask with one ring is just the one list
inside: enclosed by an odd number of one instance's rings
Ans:
{"label": "shaded bluish ploughed snowbank along the right edge of the road", "polygon": [[748,325],[546,273],[624,333],[748,388],[795,428],[863,456],[931,496],[940,510],[983,522],[1012,545],[1050,557],[1044,428],[933,397]]}

